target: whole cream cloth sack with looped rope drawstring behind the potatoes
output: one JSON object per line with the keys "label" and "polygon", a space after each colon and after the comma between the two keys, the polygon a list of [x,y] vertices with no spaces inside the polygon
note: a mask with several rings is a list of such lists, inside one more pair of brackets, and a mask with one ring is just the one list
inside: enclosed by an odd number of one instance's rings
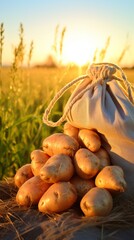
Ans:
{"label": "whole cream cloth sack with looped rope drawstring behind the potatoes", "polygon": [[[48,115],[57,98],[80,80],[82,82],[68,100],[62,118],[57,123],[49,121]],[[93,64],[87,75],[61,89],[46,109],[43,121],[57,126],[65,119],[77,128],[98,131],[112,164],[124,170],[125,196],[134,196],[134,99],[132,86],[122,69],[114,64]]]}

